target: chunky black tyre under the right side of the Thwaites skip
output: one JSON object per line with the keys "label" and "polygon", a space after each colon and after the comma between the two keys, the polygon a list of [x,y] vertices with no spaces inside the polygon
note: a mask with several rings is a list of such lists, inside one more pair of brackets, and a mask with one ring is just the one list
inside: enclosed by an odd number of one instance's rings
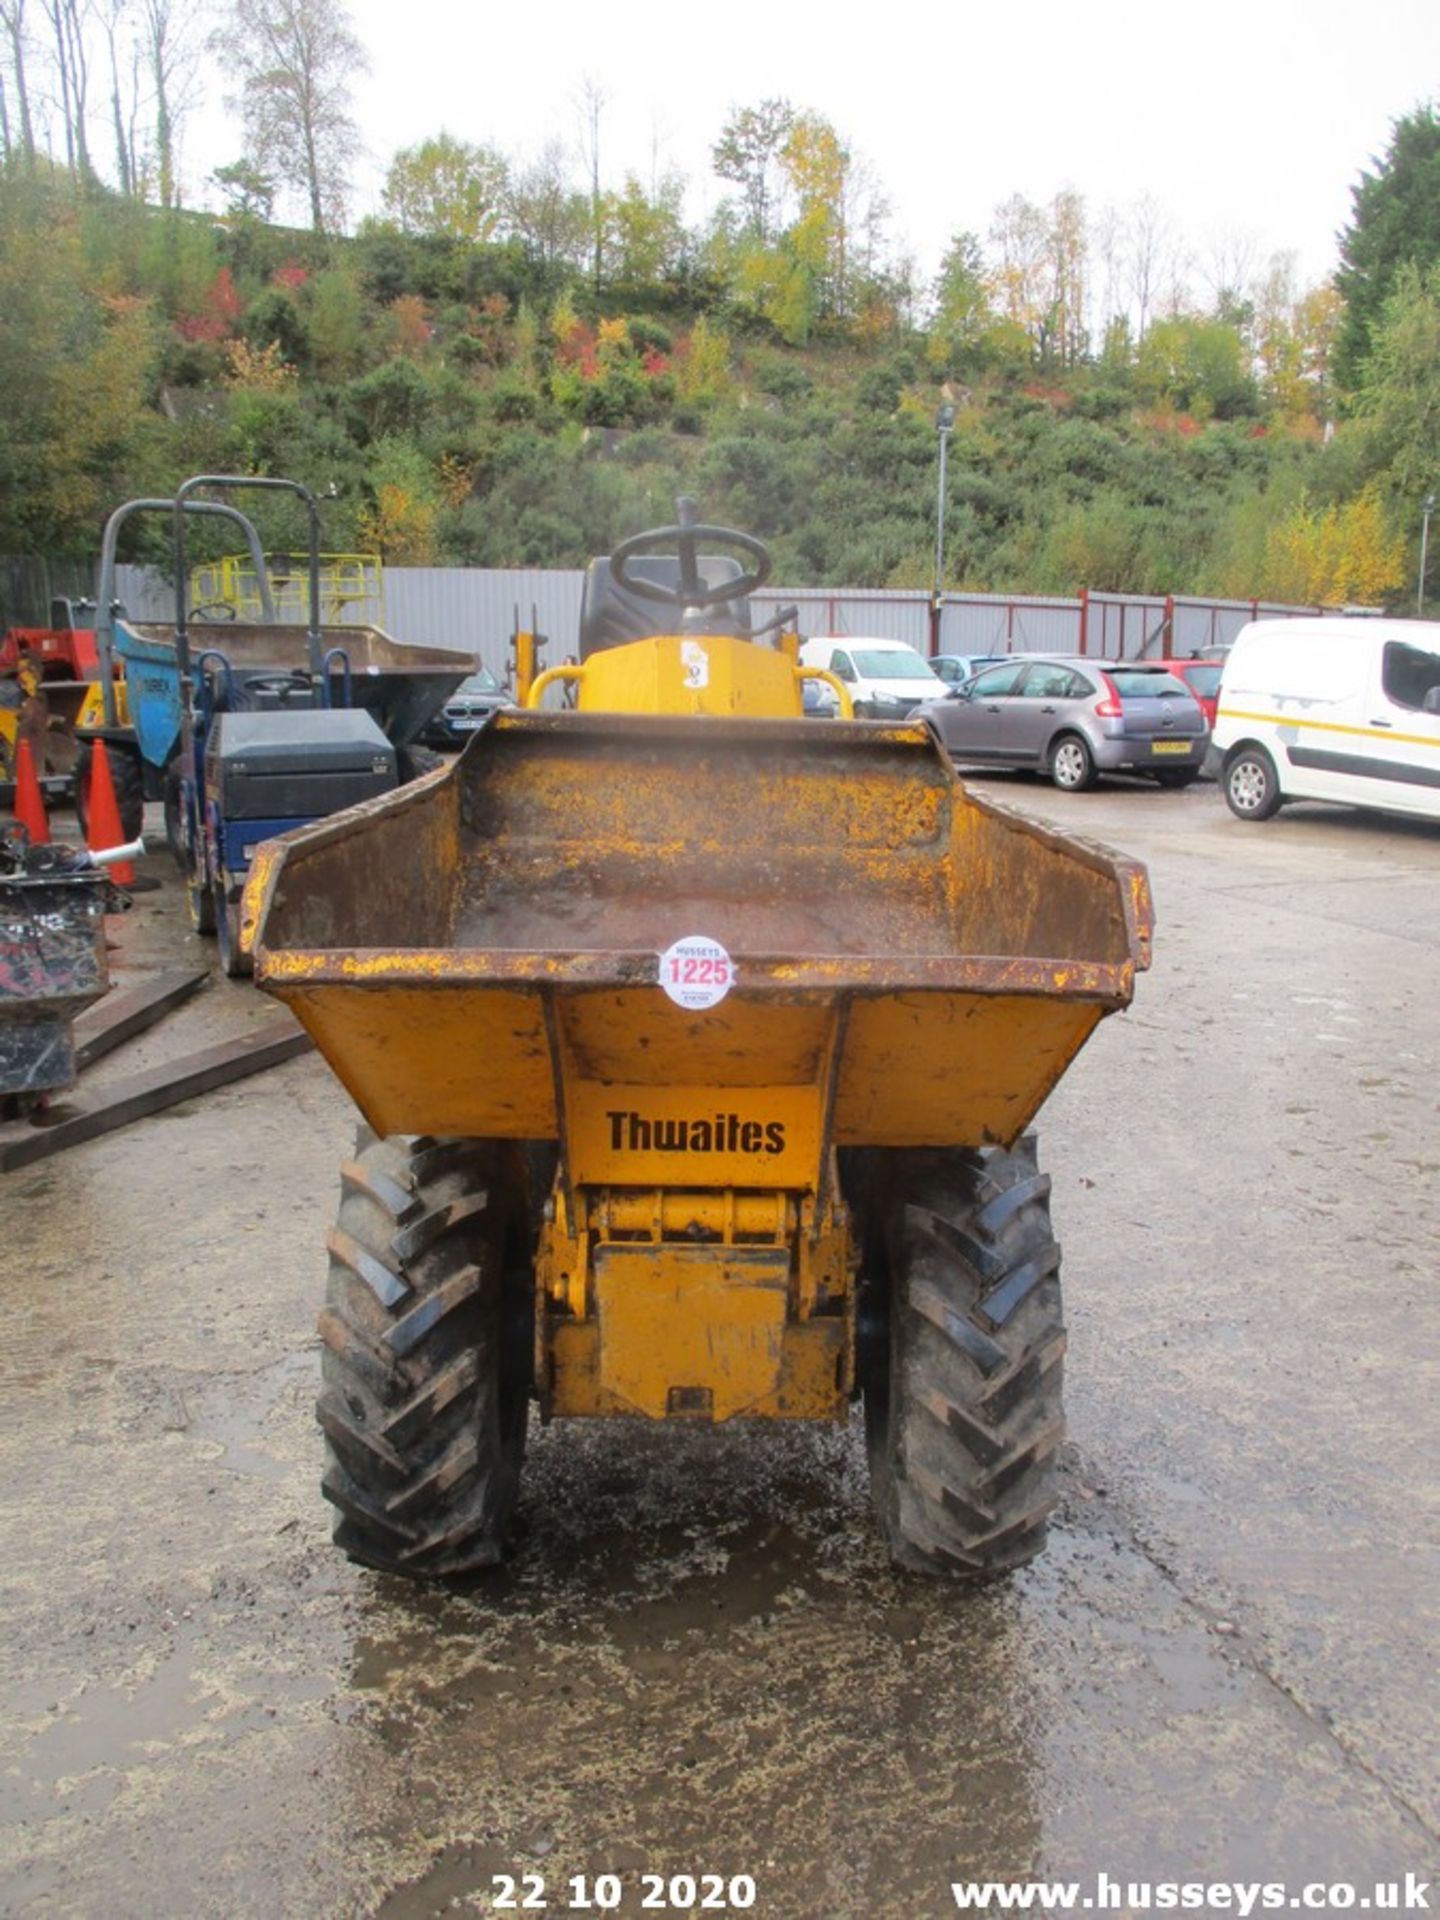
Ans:
{"label": "chunky black tyre under the right side of the Thwaites skip", "polygon": [[1031,1135],[1014,1152],[874,1160],[883,1212],[866,1260],[885,1271],[866,1288],[864,1404],[879,1526],[900,1567],[1002,1574],[1044,1546],[1064,1438],[1050,1177]]}

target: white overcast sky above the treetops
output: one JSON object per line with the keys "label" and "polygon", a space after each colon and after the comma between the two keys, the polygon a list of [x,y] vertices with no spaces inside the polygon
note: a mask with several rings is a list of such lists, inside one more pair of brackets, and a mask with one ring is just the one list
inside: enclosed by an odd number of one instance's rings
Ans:
{"label": "white overcast sky above the treetops", "polygon": [[[349,13],[371,54],[351,217],[378,211],[397,148],[442,129],[511,156],[574,146],[591,79],[607,184],[626,171],[649,184],[659,159],[689,179],[699,219],[726,192],[708,165],[726,117],[783,96],[870,163],[925,276],[950,234],[985,238],[1010,194],[1075,188],[1092,219],[1152,196],[1200,261],[1248,236],[1258,263],[1292,252],[1302,282],[1321,280],[1390,123],[1440,98],[1440,0],[351,0]],[[192,180],[240,150],[215,111],[219,71],[205,92],[186,129]]]}

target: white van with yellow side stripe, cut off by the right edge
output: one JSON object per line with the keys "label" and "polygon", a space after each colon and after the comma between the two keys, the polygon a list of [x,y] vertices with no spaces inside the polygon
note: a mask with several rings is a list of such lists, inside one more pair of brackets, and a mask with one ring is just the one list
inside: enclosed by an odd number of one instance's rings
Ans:
{"label": "white van with yellow side stripe, cut off by the right edge", "polygon": [[1231,812],[1344,801],[1440,820],[1440,624],[1254,620],[1219,684],[1206,768]]}

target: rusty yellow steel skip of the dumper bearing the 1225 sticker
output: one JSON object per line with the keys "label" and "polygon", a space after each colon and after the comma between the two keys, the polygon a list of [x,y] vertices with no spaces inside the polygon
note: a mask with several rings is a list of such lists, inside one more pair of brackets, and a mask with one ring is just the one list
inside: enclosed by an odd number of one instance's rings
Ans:
{"label": "rusty yellow steel skip of the dumper bearing the 1225 sticker", "polygon": [[[924,728],[507,712],[263,847],[242,920],[376,1133],[559,1139],[580,1181],[630,1089],[764,1089],[826,1146],[1010,1144],[1152,910],[1144,868],[973,797]],[[685,937],[730,962],[699,1010],[660,983]]]}

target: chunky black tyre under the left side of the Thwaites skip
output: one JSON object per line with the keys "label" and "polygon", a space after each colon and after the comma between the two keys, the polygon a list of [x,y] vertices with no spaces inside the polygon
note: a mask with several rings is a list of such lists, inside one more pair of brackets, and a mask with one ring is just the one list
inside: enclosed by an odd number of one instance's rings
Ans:
{"label": "chunky black tyre under the left side of the Thwaites skip", "polygon": [[323,1492],[349,1559],[444,1578],[505,1549],[530,1398],[522,1150],[361,1133],[321,1313]]}

